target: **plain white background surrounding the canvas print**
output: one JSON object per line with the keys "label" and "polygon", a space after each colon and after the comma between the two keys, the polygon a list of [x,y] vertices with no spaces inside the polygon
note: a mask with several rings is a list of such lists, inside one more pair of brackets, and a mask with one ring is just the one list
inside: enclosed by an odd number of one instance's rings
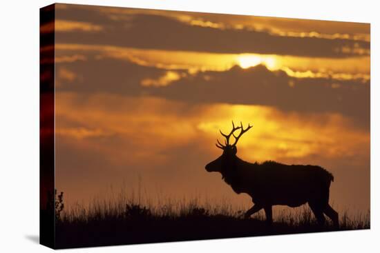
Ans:
{"label": "plain white background surrounding the canvas print", "polygon": [[[39,8],[0,8],[0,252],[48,252],[39,234]],[[371,230],[98,247],[72,252],[379,252],[379,8],[377,1],[69,1],[94,5],[371,23]],[[377,70],[377,71],[376,71]],[[354,103],[354,101],[352,101]]]}

